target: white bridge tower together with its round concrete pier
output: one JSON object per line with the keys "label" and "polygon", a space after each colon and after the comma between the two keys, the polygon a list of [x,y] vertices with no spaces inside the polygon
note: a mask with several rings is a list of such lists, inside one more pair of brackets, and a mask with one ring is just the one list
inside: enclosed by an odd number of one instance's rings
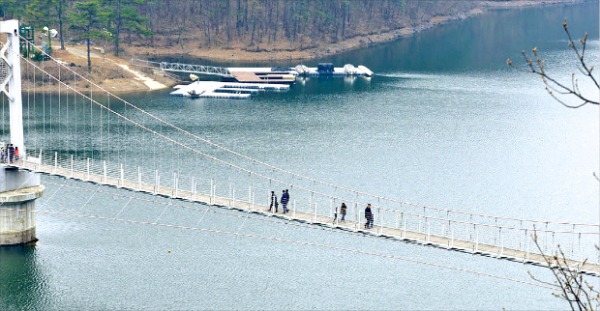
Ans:
{"label": "white bridge tower together with its round concrete pier", "polygon": [[[20,159],[27,157],[23,138],[23,104],[21,96],[21,59],[19,56],[19,22],[0,21],[0,35],[6,43],[0,49],[0,96],[8,99],[10,110],[10,144],[19,148]],[[40,176],[20,171],[19,160],[0,164],[0,246],[34,242],[35,199],[42,196]]]}

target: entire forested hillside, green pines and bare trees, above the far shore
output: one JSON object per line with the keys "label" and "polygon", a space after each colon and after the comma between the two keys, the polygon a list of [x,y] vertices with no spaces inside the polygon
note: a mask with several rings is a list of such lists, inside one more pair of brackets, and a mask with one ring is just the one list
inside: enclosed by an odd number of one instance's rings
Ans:
{"label": "entire forested hillside, green pines and bare trees, above the far shore", "polygon": [[489,1],[0,0],[0,17],[18,18],[36,29],[55,28],[63,45],[89,38],[115,55],[133,48],[163,53],[277,52],[323,49],[350,40],[351,45],[365,45],[370,42],[366,36],[461,18],[485,2]]}

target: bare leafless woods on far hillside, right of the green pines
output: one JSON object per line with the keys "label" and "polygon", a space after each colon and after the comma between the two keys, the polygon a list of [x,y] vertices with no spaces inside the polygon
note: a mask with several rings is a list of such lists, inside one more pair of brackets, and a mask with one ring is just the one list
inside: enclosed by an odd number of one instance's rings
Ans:
{"label": "bare leafless woods on far hillside, right of the green pines", "polygon": [[464,13],[472,1],[205,0],[146,6],[154,44],[306,49]]}

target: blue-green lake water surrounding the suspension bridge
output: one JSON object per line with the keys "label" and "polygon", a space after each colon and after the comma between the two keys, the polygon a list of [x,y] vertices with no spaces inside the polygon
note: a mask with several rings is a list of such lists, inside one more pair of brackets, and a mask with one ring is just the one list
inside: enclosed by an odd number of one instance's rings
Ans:
{"label": "blue-green lake water surrounding the suspension bridge", "polygon": [[[598,107],[566,109],[535,77],[505,65],[537,46],[548,70],[569,79],[576,69],[564,18],[575,37],[590,32],[587,55],[600,63],[596,2],[495,11],[307,62],[363,64],[376,72],[370,80],[310,79],[244,101],[167,91],[127,99],[213,142],[343,187],[440,208],[598,223]],[[39,101],[28,111],[51,106]],[[30,150],[85,145],[55,120],[26,122]],[[179,171],[243,178],[210,161],[167,161],[170,150],[114,126],[84,152],[134,162],[158,154]],[[529,278],[528,271],[549,279],[537,267],[58,178],[43,183],[40,241],[0,249],[0,309],[567,307]],[[141,223],[157,219],[188,228]]]}

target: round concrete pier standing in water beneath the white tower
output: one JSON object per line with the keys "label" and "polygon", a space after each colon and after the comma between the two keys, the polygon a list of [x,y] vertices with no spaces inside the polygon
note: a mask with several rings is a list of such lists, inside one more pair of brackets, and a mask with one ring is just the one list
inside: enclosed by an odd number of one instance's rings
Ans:
{"label": "round concrete pier standing in water beneath the white tower", "polygon": [[0,166],[0,246],[37,241],[35,200],[43,193],[38,174]]}

